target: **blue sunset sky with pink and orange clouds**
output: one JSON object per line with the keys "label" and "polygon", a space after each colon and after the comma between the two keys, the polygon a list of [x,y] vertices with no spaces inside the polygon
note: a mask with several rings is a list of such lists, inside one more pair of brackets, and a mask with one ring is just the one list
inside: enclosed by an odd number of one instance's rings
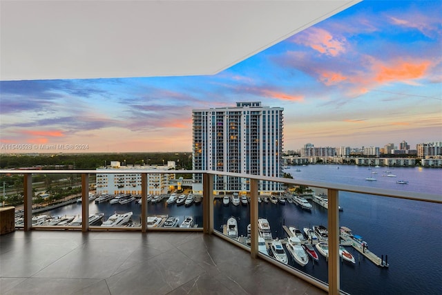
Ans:
{"label": "blue sunset sky with pink and orange clouds", "polygon": [[0,153],[191,151],[193,109],[251,101],[284,108],[286,151],[440,142],[441,15],[363,1],[218,75],[0,81]]}

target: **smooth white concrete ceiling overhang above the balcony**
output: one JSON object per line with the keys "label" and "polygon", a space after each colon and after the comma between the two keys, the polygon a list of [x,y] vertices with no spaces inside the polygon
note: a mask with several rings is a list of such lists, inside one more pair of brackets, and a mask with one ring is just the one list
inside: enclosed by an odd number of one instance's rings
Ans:
{"label": "smooth white concrete ceiling overhang above the balcony", "polygon": [[1,0],[0,79],[213,75],[359,1]]}

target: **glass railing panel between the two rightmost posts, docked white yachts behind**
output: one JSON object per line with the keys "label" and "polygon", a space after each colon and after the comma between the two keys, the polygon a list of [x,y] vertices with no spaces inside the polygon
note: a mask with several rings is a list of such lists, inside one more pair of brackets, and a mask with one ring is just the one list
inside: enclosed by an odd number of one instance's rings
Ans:
{"label": "glass railing panel between the two rightmost posts, docked white yachts behind", "polygon": [[[258,229],[260,236],[265,238],[267,255],[327,282],[327,209],[313,202],[314,188],[276,182],[260,185]],[[266,190],[266,185],[273,190]],[[324,232],[321,237],[324,244],[317,246],[321,240],[315,231]],[[324,247],[320,247],[322,245]],[[323,249],[324,255],[318,247]]]}

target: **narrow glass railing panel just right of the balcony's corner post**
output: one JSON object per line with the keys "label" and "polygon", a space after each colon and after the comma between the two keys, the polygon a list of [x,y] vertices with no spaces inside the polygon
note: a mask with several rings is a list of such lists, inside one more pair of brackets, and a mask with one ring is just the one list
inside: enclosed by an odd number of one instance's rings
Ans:
{"label": "narrow glass railing panel just right of the balcony's corner post", "polygon": [[250,246],[249,182],[249,178],[232,178],[230,189],[218,188],[213,192],[214,230],[247,247]]}

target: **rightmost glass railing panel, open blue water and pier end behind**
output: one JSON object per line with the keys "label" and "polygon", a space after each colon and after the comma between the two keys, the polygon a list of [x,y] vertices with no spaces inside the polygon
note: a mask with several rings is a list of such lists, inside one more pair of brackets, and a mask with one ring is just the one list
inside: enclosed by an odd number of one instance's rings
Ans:
{"label": "rightmost glass railing panel, open blue water and pier end behind", "polygon": [[340,229],[355,263],[340,263],[349,294],[439,294],[442,204],[340,192]]}

